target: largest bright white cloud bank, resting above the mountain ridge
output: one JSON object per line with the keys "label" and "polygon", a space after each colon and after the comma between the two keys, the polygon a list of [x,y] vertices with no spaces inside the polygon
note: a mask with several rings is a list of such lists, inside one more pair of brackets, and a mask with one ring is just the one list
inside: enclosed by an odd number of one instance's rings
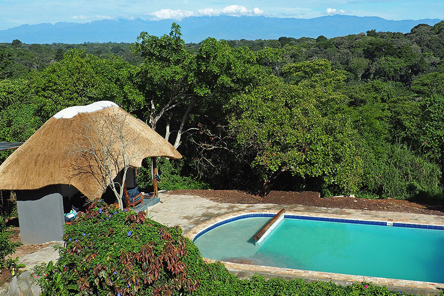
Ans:
{"label": "largest bright white cloud bank, resting above the mountain ridge", "polygon": [[263,15],[264,11],[255,7],[253,10],[247,9],[247,7],[242,5],[229,5],[222,9],[214,9],[214,8],[203,8],[194,11],[187,10],[172,10],[172,9],[161,9],[159,11],[154,11],[150,13],[153,20],[165,20],[165,19],[174,19],[174,20],[182,20],[185,17],[189,16],[218,16],[218,15],[232,15],[232,16],[241,16],[241,15]]}

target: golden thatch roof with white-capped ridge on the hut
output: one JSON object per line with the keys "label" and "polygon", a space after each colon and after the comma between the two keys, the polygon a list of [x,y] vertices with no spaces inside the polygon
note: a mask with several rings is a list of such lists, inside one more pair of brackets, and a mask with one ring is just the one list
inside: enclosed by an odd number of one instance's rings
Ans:
{"label": "golden thatch roof with white-capped ridge on the hut", "polygon": [[[131,167],[141,167],[142,159],[150,156],[182,157],[148,125],[117,105],[105,101],[94,106],[61,111],[46,121],[1,164],[0,189],[29,190],[67,184],[90,198],[100,196],[106,182],[101,176],[104,168],[100,162],[105,158],[101,145],[109,146],[113,178],[123,168],[122,143]],[[92,156],[92,147],[98,159]]]}

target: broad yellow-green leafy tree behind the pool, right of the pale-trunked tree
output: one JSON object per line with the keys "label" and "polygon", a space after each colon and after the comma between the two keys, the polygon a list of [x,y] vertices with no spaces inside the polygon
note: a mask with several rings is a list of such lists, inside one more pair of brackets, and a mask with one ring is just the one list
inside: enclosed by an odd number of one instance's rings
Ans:
{"label": "broad yellow-green leafy tree behind the pool, right of the pale-trunked tree", "polygon": [[239,145],[255,152],[252,167],[262,177],[264,193],[285,171],[304,179],[319,177],[325,189],[357,191],[362,174],[353,142],[357,135],[347,117],[319,109],[324,99],[316,88],[269,77],[232,101],[236,113],[231,128]]}

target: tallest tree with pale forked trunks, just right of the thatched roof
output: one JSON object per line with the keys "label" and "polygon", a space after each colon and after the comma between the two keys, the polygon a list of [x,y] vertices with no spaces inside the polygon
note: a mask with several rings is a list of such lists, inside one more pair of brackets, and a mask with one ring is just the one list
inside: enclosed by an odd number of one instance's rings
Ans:
{"label": "tallest tree with pale forked trunks, just right of the thatched roof", "polygon": [[145,58],[137,74],[145,96],[141,116],[163,133],[161,123],[167,140],[174,133],[171,140],[176,148],[186,132],[198,130],[199,116],[219,112],[226,98],[254,83],[263,72],[248,48],[233,49],[226,41],[207,38],[192,53],[181,36],[181,27],[173,23],[169,35],[142,32],[133,45],[133,51]]}

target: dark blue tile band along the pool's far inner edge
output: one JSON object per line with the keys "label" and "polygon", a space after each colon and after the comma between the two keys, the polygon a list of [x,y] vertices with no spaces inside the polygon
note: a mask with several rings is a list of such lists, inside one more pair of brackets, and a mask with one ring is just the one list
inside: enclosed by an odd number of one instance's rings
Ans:
{"label": "dark blue tile band along the pool's far inner edge", "polygon": [[[214,228],[221,226],[223,224],[246,219],[246,218],[255,218],[255,217],[262,217],[262,218],[273,218],[275,214],[269,214],[269,213],[253,213],[253,214],[244,214],[236,217],[232,217],[226,220],[223,220],[221,222],[217,222],[198,234],[193,238],[193,242],[198,239],[200,236],[204,235],[208,231],[213,230]],[[312,217],[312,216],[299,216],[299,215],[292,215],[292,214],[285,214],[284,218],[286,219],[300,219],[300,220],[312,220],[312,221],[324,221],[324,222],[340,222],[340,223],[351,223],[351,224],[364,224],[364,225],[378,225],[378,226],[391,226],[391,227],[405,227],[405,228],[420,228],[420,229],[433,229],[433,230],[444,230],[444,226],[439,225],[428,225],[428,224],[413,224],[413,223],[397,223],[393,222],[392,225],[387,225],[387,222],[382,221],[366,221],[366,220],[353,220],[353,219],[339,219],[339,218],[325,218],[325,217]]]}

